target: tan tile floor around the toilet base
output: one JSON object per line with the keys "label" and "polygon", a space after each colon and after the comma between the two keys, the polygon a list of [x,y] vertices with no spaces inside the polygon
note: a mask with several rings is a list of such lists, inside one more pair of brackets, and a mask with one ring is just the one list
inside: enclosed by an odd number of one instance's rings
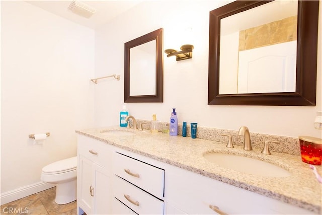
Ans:
{"label": "tan tile floor around the toilet base", "polygon": [[75,215],[76,201],[55,203],[56,187],[1,205],[1,215]]}

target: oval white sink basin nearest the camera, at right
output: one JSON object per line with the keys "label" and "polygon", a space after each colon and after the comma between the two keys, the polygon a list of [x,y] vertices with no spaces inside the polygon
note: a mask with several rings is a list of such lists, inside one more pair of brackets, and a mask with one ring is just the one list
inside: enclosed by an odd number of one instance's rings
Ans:
{"label": "oval white sink basin nearest the camera, at right", "polygon": [[279,166],[245,156],[209,153],[203,157],[219,166],[252,175],[266,177],[287,177],[291,175],[290,172]]}

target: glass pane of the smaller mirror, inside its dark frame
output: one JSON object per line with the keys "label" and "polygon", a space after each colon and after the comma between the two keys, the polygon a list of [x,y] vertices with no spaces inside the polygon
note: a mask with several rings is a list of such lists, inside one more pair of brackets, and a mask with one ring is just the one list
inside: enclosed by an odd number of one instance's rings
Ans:
{"label": "glass pane of the smaller mirror, inside its dark frame", "polygon": [[156,95],[155,65],[156,40],[130,49],[130,96]]}

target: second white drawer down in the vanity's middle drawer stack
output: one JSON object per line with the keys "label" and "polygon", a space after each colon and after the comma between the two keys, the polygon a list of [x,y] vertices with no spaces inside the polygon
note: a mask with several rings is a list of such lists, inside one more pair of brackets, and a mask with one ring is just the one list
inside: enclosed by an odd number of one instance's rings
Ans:
{"label": "second white drawer down in the vanity's middle drawer stack", "polygon": [[114,176],[114,197],[138,214],[164,214],[164,202],[124,179]]}

